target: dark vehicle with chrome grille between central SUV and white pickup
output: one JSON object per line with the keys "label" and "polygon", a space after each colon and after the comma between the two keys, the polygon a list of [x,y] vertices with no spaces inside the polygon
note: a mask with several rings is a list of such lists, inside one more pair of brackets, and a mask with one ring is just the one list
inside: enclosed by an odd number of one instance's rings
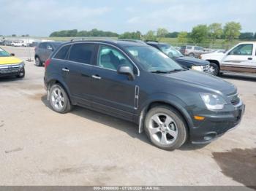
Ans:
{"label": "dark vehicle with chrome grille between central SUV and white pickup", "polygon": [[172,47],[170,44],[157,42],[157,41],[146,41],[148,45],[156,47],[158,50],[164,52],[167,56],[172,58],[174,61],[179,63],[181,66],[187,67],[188,69],[193,69],[196,71],[203,71],[209,73],[210,63],[208,61],[203,61],[198,58],[192,58],[189,56],[184,56]]}

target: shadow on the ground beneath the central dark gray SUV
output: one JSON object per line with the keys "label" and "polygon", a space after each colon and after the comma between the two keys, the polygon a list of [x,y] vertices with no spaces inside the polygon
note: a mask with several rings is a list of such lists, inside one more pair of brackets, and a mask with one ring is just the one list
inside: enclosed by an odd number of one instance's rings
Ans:
{"label": "shadow on the ground beneath the central dark gray SUV", "polygon": [[[43,95],[41,97],[41,101],[43,104],[45,104],[45,106],[51,109],[51,106],[47,101],[47,95]],[[102,114],[100,112],[95,112],[93,110],[85,109],[80,106],[74,106],[70,113],[83,117],[87,120],[101,123],[102,125],[107,125],[110,128],[121,130],[127,133],[127,135],[131,136],[133,139],[140,139],[140,141],[143,141],[146,144],[150,144],[151,146],[153,146],[153,144],[151,144],[151,141],[148,140],[146,133],[138,133],[138,125],[136,125],[133,122],[121,120],[117,117]],[[179,150],[188,151],[202,149],[203,147],[206,147],[206,145],[207,144],[192,144],[189,141],[187,141],[181,148],[179,148]]]}

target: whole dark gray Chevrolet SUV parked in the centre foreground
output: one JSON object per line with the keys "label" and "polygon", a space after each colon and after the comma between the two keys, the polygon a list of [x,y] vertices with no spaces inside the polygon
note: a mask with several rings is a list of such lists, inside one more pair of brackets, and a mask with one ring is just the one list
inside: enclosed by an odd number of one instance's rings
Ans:
{"label": "whole dark gray Chevrolet SUV parked in the centre foreground", "polygon": [[187,139],[209,142],[244,114],[234,85],[183,69],[138,42],[62,44],[45,62],[44,80],[54,111],[79,105],[135,122],[162,149],[176,149]]}

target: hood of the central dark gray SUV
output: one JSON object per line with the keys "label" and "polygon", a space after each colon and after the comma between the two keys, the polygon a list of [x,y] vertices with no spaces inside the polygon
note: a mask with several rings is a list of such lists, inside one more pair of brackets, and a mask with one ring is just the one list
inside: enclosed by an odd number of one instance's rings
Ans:
{"label": "hood of the central dark gray SUV", "polygon": [[211,89],[213,91],[220,91],[225,95],[236,93],[236,87],[219,77],[214,77],[211,74],[204,74],[197,71],[178,71],[171,74],[161,74],[158,77],[165,79],[169,78],[170,81],[176,80],[185,85],[192,85],[200,88]]}

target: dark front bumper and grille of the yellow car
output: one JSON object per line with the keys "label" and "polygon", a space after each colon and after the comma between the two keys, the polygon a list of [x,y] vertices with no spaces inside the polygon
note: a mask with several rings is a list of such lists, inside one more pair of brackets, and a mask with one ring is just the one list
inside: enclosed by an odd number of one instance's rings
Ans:
{"label": "dark front bumper and grille of the yellow car", "polygon": [[15,76],[24,71],[24,63],[0,65],[0,77]]}

